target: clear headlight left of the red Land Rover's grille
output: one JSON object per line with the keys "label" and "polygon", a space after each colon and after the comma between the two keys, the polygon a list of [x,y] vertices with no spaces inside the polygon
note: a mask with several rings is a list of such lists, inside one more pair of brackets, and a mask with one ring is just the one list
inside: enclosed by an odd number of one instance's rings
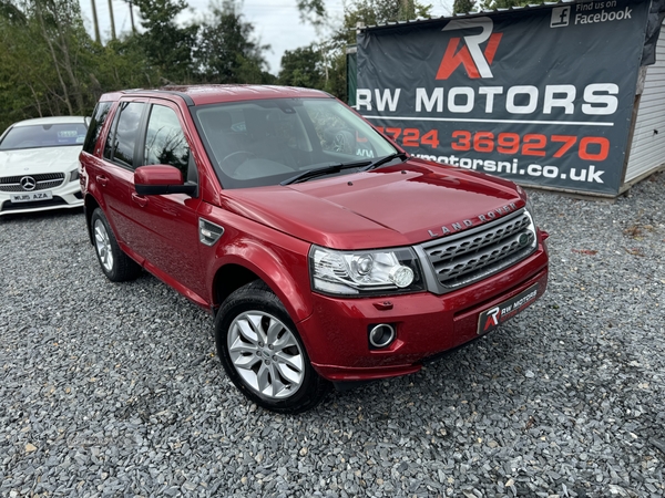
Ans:
{"label": "clear headlight left of the red Land Rover's grille", "polygon": [[418,257],[410,248],[336,251],[313,246],[309,251],[314,290],[340,295],[371,295],[423,290]]}

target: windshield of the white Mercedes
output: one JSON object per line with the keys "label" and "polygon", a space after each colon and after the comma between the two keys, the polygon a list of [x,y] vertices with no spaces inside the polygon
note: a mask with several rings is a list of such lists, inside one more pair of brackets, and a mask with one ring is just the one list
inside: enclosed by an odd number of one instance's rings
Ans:
{"label": "windshield of the white Mercedes", "polygon": [[83,122],[14,126],[2,138],[0,151],[62,147],[66,145],[82,146],[86,132],[88,129]]}

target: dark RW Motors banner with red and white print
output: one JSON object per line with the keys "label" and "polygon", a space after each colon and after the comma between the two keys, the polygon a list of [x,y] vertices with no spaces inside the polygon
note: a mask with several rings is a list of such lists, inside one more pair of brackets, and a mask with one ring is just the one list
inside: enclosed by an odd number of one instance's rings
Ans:
{"label": "dark RW Motors banner with red and white print", "polygon": [[616,194],[648,6],[585,1],[366,30],[356,107],[420,157]]}

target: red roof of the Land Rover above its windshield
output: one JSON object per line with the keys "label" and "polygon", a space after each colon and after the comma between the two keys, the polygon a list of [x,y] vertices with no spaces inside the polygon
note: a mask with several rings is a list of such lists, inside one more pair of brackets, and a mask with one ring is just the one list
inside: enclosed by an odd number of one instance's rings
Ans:
{"label": "red roof of the Land Rover above its windshield", "polygon": [[102,95],[101,101],[116,101],[122,95],[167,96],[178,95],[187,105],[205,105],[222,102],[254,101],[263,98],[317,97],[334,98],[320,90],[276,85],[174,85],[155,90],[125,90]]}

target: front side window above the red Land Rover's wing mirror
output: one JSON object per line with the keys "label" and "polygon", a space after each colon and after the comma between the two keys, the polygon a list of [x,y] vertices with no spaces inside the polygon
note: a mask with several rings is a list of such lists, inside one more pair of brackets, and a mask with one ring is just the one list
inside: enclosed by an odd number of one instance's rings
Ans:
{"label": "front side window above the red Land Rover's wing mirror", "polygon": [[145,135],[145,159],[149,164],[175,166],[187,179],[190,145],[183,133],[175,111],[163,105],[153,105]]}

